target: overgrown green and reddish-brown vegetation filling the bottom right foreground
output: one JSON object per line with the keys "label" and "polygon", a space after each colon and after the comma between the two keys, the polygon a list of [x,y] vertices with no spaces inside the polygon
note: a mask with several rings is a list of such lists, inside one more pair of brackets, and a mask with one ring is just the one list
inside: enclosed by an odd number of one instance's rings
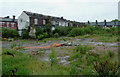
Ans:
{"label": "overgrown green and reddish-brown vegetation filling the bottom right foreground", "polygon": [[80,74],[108,76],[119,74],[117,57],[113,52],[109,51],[107,54],[97,54],[90,52],[89,50],[91,49],[93,48],[78,46],[75,48],[76,52],[69,58],[71,65],[80,68]]}

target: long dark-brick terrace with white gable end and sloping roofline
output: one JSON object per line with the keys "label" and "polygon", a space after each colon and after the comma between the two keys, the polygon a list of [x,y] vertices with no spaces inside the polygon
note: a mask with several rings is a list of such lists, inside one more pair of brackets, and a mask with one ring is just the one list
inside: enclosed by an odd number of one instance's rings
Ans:
{"label": "long dark-brick terrace with white gable end and sloping roofline", "polygon": [[63,17],[53,17],[53,16],[47,16],[42,15],[38,13],[32,13],[28,11],[23,11],[22,14],[18,17],[18,30],[21,34],[21,30],[24,28],[30,29],[30,34],[34,34],[36,31],[36,27],[45,27],[47,24],[47,18],[50,17],[50,22],[52,27],[67,27],[72,26],[72,23]]}

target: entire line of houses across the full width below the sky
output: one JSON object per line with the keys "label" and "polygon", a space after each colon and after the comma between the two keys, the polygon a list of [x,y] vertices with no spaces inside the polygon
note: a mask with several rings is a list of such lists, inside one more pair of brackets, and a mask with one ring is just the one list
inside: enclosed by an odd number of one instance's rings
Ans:
{"label": "entire line of houses across the full width below the sky", "polygon": [[15,19],[15,16],[13,18],[7,17],[0,17],[0,27],[3,26],[8,29],[17,29],[19,33],[21,34],[22,29],[27,28],[30,29],[30,35],[33,35],[36,31],[37,27],[44,28],[45,25],[48,23],[51,23],[52,29],[54,29],[57,26],[61,27],[85,27],[87,24],[90,26],[98,25],[102,28],[108,28],[108,27],[116,27],[120,26],[120,21],[115,22],[76,22],[76,21],[70,21],[67,19],[64,19],[63,17],[54,17],[49,15],[43,15],[28,11],[23,11],[21,15],[18,17],[18,19]]}

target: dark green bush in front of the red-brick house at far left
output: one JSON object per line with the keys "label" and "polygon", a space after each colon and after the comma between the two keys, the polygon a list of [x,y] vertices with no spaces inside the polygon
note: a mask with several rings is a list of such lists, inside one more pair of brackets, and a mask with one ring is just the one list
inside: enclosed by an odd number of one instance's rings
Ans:
{"label": "dark green bush in front of the red-brick house at far left", "polygon": [[19,34],[17,30],[2,28],[2,37],[15,38],[15,37],[19,37]]}

